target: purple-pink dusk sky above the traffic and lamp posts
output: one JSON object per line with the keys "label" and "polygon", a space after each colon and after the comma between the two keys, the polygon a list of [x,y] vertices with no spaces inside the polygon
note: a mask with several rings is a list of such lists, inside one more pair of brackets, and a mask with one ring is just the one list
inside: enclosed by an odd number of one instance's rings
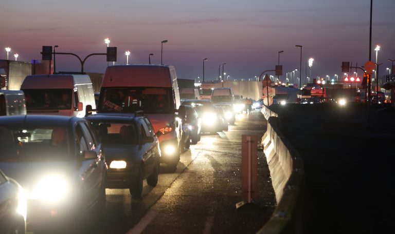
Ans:
{"label": "purple-pink dusk sky above the traffic and lamp posts", "polygon": [[[180,79],[214,80],[226,63],[230,79],[248,79],[278,62],[285,72],[299,70],[302,45],[302,77],[306,62],[314,58],[312,77],[341,74],[349,61],[363,66],[369,59],[369,0],[220,0],[220,1],[22,1],[2,0],[0,59],[5,47],[19,54],[19,61],[40,60],[42,46],[59,45],[57,52],[72,52],[82,59],[105,53],[104,38],[117,47],[116,64],[174,65]],[[372,61],[376,45],[380,74],[395,59],[395,1],[373,1]],[[80,71],[70,55],[57,55],[57,71]],[[112,63],[111,63],[112,64]],[[105,71],[105,56],[87,59],[87,72]],[[222,69],[221,69],[222,73]],[[274,74],[274,73],[269,73]],[[225,76],[226,77],[226,76]],[[303,78],[304,80],[304,78]]]}

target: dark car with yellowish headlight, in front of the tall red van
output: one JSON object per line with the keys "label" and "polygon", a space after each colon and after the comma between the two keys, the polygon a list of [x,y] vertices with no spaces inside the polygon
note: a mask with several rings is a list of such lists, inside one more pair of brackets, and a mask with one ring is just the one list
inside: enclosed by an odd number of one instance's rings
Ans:
{"label": "dark car with yellowish headlight, in front of the tall red van", "polygon": [[85,116],[93,125],[106,161],[107,188],[129,188],[134,199],[141,200],[143,180],[156,186],[159,173],[159,143],[151,122],[142,111],[136,113],[100,113]]}

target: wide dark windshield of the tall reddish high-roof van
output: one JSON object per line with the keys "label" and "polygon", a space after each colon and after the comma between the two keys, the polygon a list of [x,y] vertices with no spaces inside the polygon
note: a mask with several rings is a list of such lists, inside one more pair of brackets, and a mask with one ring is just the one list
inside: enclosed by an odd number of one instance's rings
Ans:
{"label": "wide dark windshield of the tall reddish high-roof van", "polygon": [[98,108],[100,112],[174,113],[172,93],[171,88],[102,88]]}

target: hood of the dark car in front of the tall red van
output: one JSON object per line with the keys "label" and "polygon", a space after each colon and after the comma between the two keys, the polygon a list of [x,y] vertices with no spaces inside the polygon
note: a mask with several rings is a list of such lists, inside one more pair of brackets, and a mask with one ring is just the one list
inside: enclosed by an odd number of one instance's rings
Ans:
{"label": "hood of the dark car in front of the tall red van", "polygon": [[107,163],[113,160],[132,159],[139,157],[138,145],[104,144],[103,152]]}

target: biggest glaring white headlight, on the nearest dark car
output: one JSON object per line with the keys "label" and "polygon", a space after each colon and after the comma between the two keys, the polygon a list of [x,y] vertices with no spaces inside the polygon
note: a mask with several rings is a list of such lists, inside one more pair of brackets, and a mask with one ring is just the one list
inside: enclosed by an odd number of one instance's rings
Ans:
{"label": "biggest glaring white headlight, on the nearest dark car", "polygon": [[30,199],[56,203],[64,200],[69,192],[69,185],[61,175],[48,175],[41,179],[31,192]]}

